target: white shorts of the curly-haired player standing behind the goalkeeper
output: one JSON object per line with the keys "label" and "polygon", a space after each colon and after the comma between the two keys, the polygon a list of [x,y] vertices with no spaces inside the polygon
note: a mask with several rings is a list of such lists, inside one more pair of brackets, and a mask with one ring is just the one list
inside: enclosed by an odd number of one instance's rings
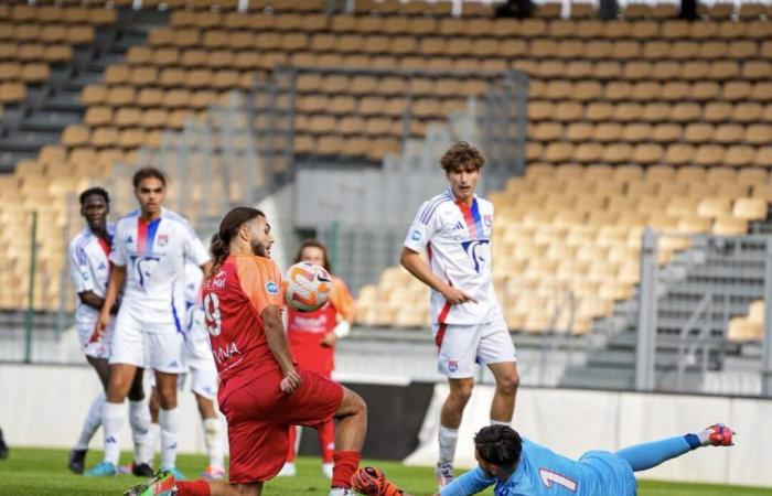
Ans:
{"label": "white shorts of the curly-haired player standing behind the goalkeeper", "polygon": [[517,362],[504,319],[474,325],[433,324],[437,369],[449,379],[474,377],[474,364]]}

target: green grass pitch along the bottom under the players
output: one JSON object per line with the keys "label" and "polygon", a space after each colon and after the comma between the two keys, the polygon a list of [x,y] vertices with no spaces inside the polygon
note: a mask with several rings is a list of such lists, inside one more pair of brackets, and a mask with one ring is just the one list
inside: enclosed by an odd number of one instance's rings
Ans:
{"label": "green grass pitch along the bottom under the players", "polygon": [[[100,460],[101,453],[89,452],[86,466]],[[128,454],[127,454],[128,456]],[[65,450],[11,448],[8,460],[0,460],[0,495],[2,496],[108,496],[120,495],[140,478],[121,475],[109,478],[85,478],[66,468]],[[433,472],[430,468],[406,467],[395,462],[364,461],[383,468],[387,476],[416,496],[431,495]],[[196,476],[206,465],[200,455],[180,455],[179,466],[189,476]],[[298,476],[277,478],[265,486],[266,496],[326,495],[328,481],[322,476],[318,459],[300,459]],[[492,492],[485,492],[491,495]],[[641,496],[772,496],[772,489],[714,485],[675,484],[642,481]]]}

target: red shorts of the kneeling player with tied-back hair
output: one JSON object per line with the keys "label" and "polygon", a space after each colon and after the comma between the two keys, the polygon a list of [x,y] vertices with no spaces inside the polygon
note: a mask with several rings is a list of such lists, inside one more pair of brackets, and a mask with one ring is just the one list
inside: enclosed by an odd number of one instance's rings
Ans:
{"label": "red shorts of the kneeling player with tied-back hair", "polygon": [[287,460],[290,425],[319,428],[343,401],[337,382],[298,367],[300,389],[279,390],[281,371],[269,370],[230,391],[219,405],[228,422],[229,481],[249,484],[276,476]]}

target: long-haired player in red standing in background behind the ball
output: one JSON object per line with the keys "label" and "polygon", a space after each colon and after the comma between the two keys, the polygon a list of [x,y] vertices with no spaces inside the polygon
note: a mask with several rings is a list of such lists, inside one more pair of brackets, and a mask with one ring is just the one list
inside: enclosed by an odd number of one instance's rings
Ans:
{"label": "long-haired player in red standing in background behind the ball", "polygon": [[[324,267],[332,273],[328,250],[317,240],[304,241],[296,262],[307,261]],[[315,312],[300,312],[290,308],[287,312],[287,339],[292,357],[302,367],[313,370],[322,377],[332,378],[335,366],[335,343],[351,332],[351,325],[356,319],[356,303],[342,279],[332,278],[330,301]],[[293,476],[296,441],[298,428],[290,429],[289,452],[287,463],[279,476]],[[322,448],[322,473],[332,478],[332,453],[335,450],[335,424],[332,419],[319,428],[319,444]]]}

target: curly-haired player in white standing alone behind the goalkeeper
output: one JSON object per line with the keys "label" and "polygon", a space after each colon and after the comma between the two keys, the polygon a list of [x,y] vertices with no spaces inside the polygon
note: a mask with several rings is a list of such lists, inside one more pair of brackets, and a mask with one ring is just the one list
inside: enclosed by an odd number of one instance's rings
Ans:
{"label": "curly-haired player in white standing alone behind the goalkeeper", "polygon": [[[458,429],[474,386],[474,363],[496,381],[491,423],[512,421],[519,378],[515,347],[491,277],[493,204],[474,194],[485,159],[457,142],[440,161],[450,187],[425,202],[405,239],[401,265],[431,288],[431,322],[439,371],[450,393],[440,413],[437,483],[453,479]],[[420,258],[426,250],[429,263]]]}

